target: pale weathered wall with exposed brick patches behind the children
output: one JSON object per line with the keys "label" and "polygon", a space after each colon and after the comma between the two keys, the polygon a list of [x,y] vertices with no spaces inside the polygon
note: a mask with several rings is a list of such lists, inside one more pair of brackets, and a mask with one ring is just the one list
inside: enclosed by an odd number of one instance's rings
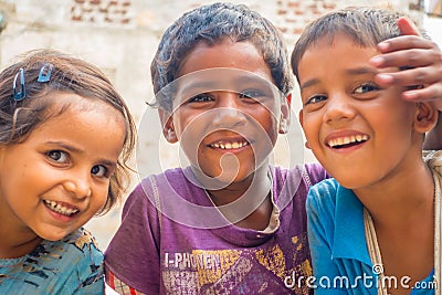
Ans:
{"label": "pale weathered wall with exposed brick patches behind the children", "polygon": [[[197,0],[0,0],[0,66],[15,54],[35,48],[55,48],[76,54],[98,65],[128,102],[138,124],[141,140],[134,167],[133,186],[148,173],[180,165],[177,147],[161,139],[156,110],[146,106],[154,99],[149,76],[150,61],[159,38],[171,22],[197,6],[214,1]],[[242,0],[274,22],[291,51],[304,25],[313,18],[335,8],[366,4],[362,0]],[[375,3],[373,1],[371,1]],[[385,2],[385,1],[381,1]],[[429,24],[430,35],[441,44],[441,0],[391,0],[393,6]],[[425,14],[433,15],[429,19]],[[294,114],[299,105],[294,92]],[[274,162],[292,166],[313,161],[303,152],[297,119],[293,135],[278,144]],[[145,127],[144,127],[145,126]],[[147,126],[147,127],[146,127]],[[285,140],[285,141],[284,141]],[[94,219],[87,226],[103,249],[118,226],[120,208]]]}

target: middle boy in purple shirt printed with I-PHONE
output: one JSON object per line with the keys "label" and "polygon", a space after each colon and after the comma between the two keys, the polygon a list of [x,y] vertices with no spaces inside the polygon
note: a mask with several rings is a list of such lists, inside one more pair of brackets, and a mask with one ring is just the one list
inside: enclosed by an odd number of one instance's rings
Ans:
{"label": "middle boy in purple shirt printed with I-PHONE", "polygon": [[197,8],[166,31],[151,75],[162,133],[190,167],[129,196],[107,283],[120,294],[309,294],[305,198],[327,175],[270,165],[293,83],[277,30],[244,6]]}

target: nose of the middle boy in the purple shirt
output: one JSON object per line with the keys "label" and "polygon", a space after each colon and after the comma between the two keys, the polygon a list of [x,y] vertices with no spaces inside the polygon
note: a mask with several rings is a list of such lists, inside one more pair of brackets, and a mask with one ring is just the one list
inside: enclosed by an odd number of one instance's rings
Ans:
{"label": "nose of the middle boy in the purple shirt", "polygon": [[246,116],[241,107],[240,94],[225,92],[220,94],[213,125],[218,127],[234,127],[246,122]]}

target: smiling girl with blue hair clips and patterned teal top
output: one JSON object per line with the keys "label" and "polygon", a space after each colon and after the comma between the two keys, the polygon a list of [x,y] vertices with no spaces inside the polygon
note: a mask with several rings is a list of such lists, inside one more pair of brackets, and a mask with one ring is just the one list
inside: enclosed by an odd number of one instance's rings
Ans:
{"label": "smiling girl with blue hair clips and patterned teal top", "polygon": [[81,228],[122,197],[135,127],[95,66],[54,50],[0,74],[0,293],[103,294]]}

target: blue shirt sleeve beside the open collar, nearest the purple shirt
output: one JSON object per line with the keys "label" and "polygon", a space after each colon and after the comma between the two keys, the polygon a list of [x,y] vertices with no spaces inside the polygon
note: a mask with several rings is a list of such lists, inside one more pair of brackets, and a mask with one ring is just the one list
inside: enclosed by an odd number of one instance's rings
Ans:
{"label": "blue shirt sleeve beside the open collar, nearest the purple shirt", "polygon": [[337,265],[332,260],[330,241],[334,236],[334,221],[329,210],[322,206],[320,186],[313,187],[307,196],[307,232],[312,254],[313,283],[315,295],[347,294],[345,289],[333,288],[335,277],[340,276]]}

